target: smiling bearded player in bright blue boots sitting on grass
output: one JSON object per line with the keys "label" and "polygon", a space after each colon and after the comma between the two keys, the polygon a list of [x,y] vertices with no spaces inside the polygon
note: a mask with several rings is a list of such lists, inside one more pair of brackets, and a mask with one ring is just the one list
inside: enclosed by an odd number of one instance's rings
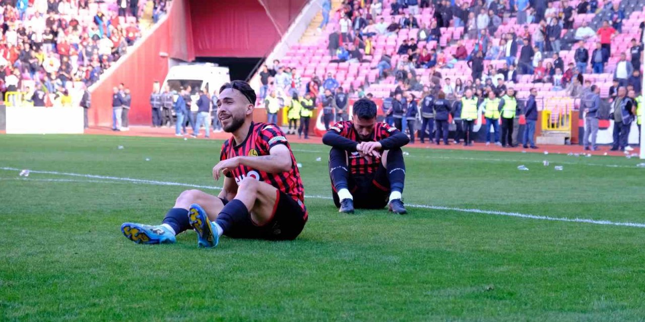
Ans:
{"label": "smiling bearded player in bright blue boots sitting on grass", "polygon": [[224,142],[213,178],[224,176],[217,196],[199,190],[179,195],[161,225],[124,223],[135,243],[174,243],[175,235],[197,231],[199,247],[219,237],[293,240],[307,222],[304,187],[284,133],[275,124],[254,123],[255,92],[243,81],[224,84],[217,117],[232,137]]}

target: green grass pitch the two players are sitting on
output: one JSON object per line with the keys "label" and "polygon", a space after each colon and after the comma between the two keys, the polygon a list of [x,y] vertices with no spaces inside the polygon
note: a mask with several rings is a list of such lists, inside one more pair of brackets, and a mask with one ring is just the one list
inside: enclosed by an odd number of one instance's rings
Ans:
{"label": "green grass pitch the two players are sitting on", "polygon": [[[330,196],[328,149],[313,144],[293,145],[310,211],[293,242],[224,237],[206,250],[192,231],[174,245],[123,237],[121,223],[161,222],[188,188],[121,178],[221,186],[220,146],[0,136],[0,167],[32,170],[0,170],[0,321],[645,321],[645,227],[421,207],[339,214],[319,198]],[[408,205],[645,223],[640,160],[404,151]]]}

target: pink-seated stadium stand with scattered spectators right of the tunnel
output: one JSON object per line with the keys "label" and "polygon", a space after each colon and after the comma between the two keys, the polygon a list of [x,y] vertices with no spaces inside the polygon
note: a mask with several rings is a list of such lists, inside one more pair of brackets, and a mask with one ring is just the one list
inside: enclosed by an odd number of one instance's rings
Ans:
{"label": "pink-seated stadium stand with scattered spectators right of the tunnel", "polygon": [[[397,88],[399,83],[397,80],[404,79],[404,84],[409,85],[409,81],[405,80],[406,76],[397,75],[397,70],[405,70],[412,72],[413,75],[421,75],[421,83],[424,86],[436,86],[443,88],[446,86],[445,79],[454,81],[460,79],[464,84],[467,81],[473,81],[472,71],[464,57],[456,59],[455,55],[462,54],[461,45],[466,49],[468,57],[474,55],[477,50],[483,50],[487,54],[490,52],[497,52],[498,54],[493,57],[486,56],[483,61],[485,70],[488,66],[492,66],[493,71],[498,71],[504,64],[512,62],[518,63],[520,53],[522,51],[522,39],[525,37],[533,37],[530,46],[538,44],[537,33],[542,30],[545,35],[553,35],[553,39],[557,39],[560,44],[560,50],[557,52],[564,63],[564,69],[561,72],[564,74],[564,84],[562,90],[554,88],[553,77],[546,77],[544,82],[533,82],[534,78],[531,73],[525,75],[518,75],[517,81],[512,82],[516,90],[519,90],[518,98],[526,98],[529,95],[529,89],[535,87],[539,90],[538,97],[540,99],[550,99],[552,97],[579,97],[580,91],[571,88],[571,79],[573,79],[577,71],[575,69],[569,70],[569,64],[575,65],[575,51],[579,47],[577,44],[577,30],[581,27],[591,28],[593,34],[588,35],[584,39],[584,48],[588,50],[590,59],[595,46],[600,41],[599,35],[596,30],[602,26],[602,21],[610,21],[610,26],[615,28],[618,32],[611,39],[610,55],[604,71],[602,73],[593,73],[592,64],[586,64],[586,69],[582,71],[584,81],[591,81],[592,84],[597,84],[601,88],[601,97],[606,99],[610,95],[610,87],[614,78],[614,71],[617,62],[620,59],[620,53],[628,53],[628,60],[631,59],[629,53],[631,49],[631,39],[637,39],[640,43],[642,39],[642,30],[645,21],[645,0],[628,0],[628,1],[553,1],[548,3],[548,8],[544,8],[544,21],[555,21],[557,28],[547,26],[546,24],[539,24],[535,20],[536,12],[528,12],[529,19],[533,19],[531,23],[521,24],[517,22],[517,12],[508,6],[508,1],[466,1],[462,8],[459,8],[459,1],[455,1],[457,5],[450,5],[450,1],[406,1],[406,0],[384,0],[382,5],[373,5],[379,1],[335,1],[332,5],[330,12],[329,23],[324,28],[319,29],[319,33],[312,35],[313,24],[310,25],[308,36],[303,37],[301,42],[292,46],[290,50],[280,59],[281,66],[288,66],[293,68],[292,75],[298,75],[301,84],[298,90],[301,93],[307,91],[306,84],[314,79],[316,76],[324,80],[324,75],[332,73],[335,79],[340,82],[340,85],[345,89],[350,89],[350,94],[353,96],[364,95],[364,93],[372,93],[375,98],[384,98],[390,96]],[[324,1],[323,1],[324,3]],[[418,13],[410,16],[410,8],[406,3],[419,3],[421,8]],[[439,5],[437,5],[439,3]],[[487,6],[488,5],[488,6]],[[323,6],[324,8],[324,6]],[[482,37],[481,29],[477,30],[477,23],[479,17],[475,17],[475,13],[479,12],[480,8],[488,8],[490,10],[490,17],[482,17],[482,21],[486,23],[484,30],[490,33],[490,37]],[[465,9],[463,14],[462,9]],[[513,9],[513,10],[511,10]],[[455,21],[455,13],[465,17],[465,15],[472,14],[473,19],[464,24],[463,19]],[[344,15],[350,15],[350,24],[348,30],[344,25],[346,21],[341,21]],[[493,16],[494,19],[491,19]],[[413,19],[412,19],[413,17]],[[497,19],[499,17],[499,19]],[[320,19],[319,19],[320,20]],[[358,20],[358,21],[357,21]],[[564,21],[566,20],[566,21]],[[620,21],[620,22],[619,22]],[[381,23],[382,22],[382,23]],[[380,24],[379,24],[380,23]],[[407,23],[408,26],[402,26]],[[439,23],[440,25],[437,25]],[[456,23],[456,24],[455,24]],[[398,26],[396,26],[398,24]],[[499,24],[499,25],[497,25]],[[357,28],[356,28],[357,27]],[[412,28],[409,28],[412,27]],[[474,28],[473,28],[474,27]],[[567,27],[567,28],[564,28]],[[426,29],[423,29],[426,28]],[[342,30],[341,30],[342,29]],[[339,59],[338,55],[330,56],[330,34],[336,30],[341,30],[342,38],[350,39],[348,49],[352,50],[353,46],[360,48],[360,56],[353,55],[357,59]],[[420,32],[420,30],[424,30]],[[581,33],[584,29],[581,30]],[[557,35],[553,34],[557,33]],[[419,39],[419,35],[426,36],[426,39]],[[512,59],[506,59],[504,55],[504,42],[510,37],[517,42],[517,55]],[[486,38],[486,39],[484,39]],[[553,49],[550,46],[550,39],[546,37],[546,41],[540,44],[544,46],[541,51],[541,61],[544,66],[553,64]],[[334,36],[332,36],[334,39]],[[504,39],[504,40],[502,40]],[[489,44],[486,44],[488,42]],[[335,43],[335,41],[332,41]],[[414,57],[414,62],[410,61],[410,56],[407,50],[402,50],[401,46],[413,44],[419,48],[418,51],[412,50],[410,53]],[[501,48],[502,46],[502,48]],[[514,45],[515,46],[515,45]],[[342,47],[342,46],[341,46]],[[488,48],[487,48],[488,47]],[[557,48],[556,48],[557,49]],[[426,68],[419,64],[421,59],[428,59],[428,57],[421,57],[423,50],[427,50],[431,54],[432,61],[436,61],[435,69]],[[431,53],[431,51],[436,51]],[[461,53],[458,53],[458,50]],[[340,49],[339,52],[344,50]],[[332,48],[333,52],[333,48]],[[344,55],[344,53],[342,53]],[[390,57],[386,57],[389,55]],[[458,55],[461,56],[461,55]],[[344,57],[343,57],[344,58]],[[390,60],[392,68],[384,68],[385,73],[382,77],[379,75],[379,62],[384,59]],[[588,61],[590,60],[588,59]],[[537,60],[533,62],[533,67],[537,66]],[[386,66],[381,64],[381,66]],[[551,76],[555,70],[546,71]],[[433,74],[435,77],[433,77]],[[493,72],[490,75],[482,76],[482,84],[485,83],[486,78],[491,75],[499,75],[500,73]],[[439,76],[441,75],[441,76]],[[436,76],[439,76],[436,78]],[[631,75],[630,75],[631,76]],[[506,80],[507,82],[509,80]],[[413,81],[412,81],[413,82]],[[294,82],[295,84],[295,82]],[[320,84],[319,84],[320,85]],[[359,90],[364,88],[364,90]],[[412,91],[416,97],[420,97],[422,91]],[[546,100],[542,100],[546,102]],[[551,100],[553,104],[557,104],[557,100]],[[545,103],[546,104],[546,103]]]}

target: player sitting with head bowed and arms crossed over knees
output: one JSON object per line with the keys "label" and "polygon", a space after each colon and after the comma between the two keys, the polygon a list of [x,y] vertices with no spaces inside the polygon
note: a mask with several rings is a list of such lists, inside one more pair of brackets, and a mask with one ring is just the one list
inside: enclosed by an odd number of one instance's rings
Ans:
{"label": "player sitting with head bowed and arms crossed over knees", "polygon": [[376,122],[376,104],[359,99],[351,121],[338,122],[323,137],[331,146],[329,173],[333,202],[341,213],[380,209],[406,213],[401,200],[405,164],[401,147],[410,138],[386,123]]}

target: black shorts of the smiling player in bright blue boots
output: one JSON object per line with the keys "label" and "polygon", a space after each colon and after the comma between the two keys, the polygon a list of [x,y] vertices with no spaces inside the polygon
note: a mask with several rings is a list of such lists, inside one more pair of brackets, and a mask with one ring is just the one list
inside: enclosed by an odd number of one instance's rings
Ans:
{"label": "black shorts of the smiling player in bright blue boots", "polygon": [[[307,222],[307,211],[301,207],[302,202],[293,200],[291,196],[277,190],[273,206],[273,216],[262,226],[253,222],[249,214],[243,221],[235,225],[224,235],[230,238],[249,238],[263,240],[293,240],[304,229]],[[224,205],[227,200],[222,200]]]}

